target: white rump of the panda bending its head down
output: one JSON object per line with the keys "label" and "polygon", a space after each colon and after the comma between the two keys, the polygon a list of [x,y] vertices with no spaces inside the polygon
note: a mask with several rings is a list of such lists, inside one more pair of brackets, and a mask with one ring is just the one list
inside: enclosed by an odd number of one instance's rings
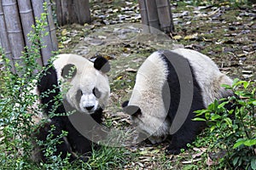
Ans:
{"label": "white rump of the panda bending its head down", "polygon": [[195,78],[199,83],[204,104],[210,105],[214,99],[221,99],[223,94],[231,94],[230,91],[221,87],[221,84],[232,85],[232,80],[218,70],[218,66],[207,57],[195,50],[177,48],[172,52],[182,55],[184,58],[189,59],[189,64],[194,69]]}

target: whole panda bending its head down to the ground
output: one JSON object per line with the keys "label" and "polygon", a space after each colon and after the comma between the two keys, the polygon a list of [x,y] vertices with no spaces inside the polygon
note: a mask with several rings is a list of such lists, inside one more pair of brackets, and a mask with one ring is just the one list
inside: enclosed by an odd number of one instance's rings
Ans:
{"label": "whole panda bending its head down to the ground", "polygon": [[171,137],[166,153],[177,155],[206,127],[192,121],[194,111],[233,95],[221,86],[232,82],[204,54],[186,48],[160,50],[140,66],[131,98],[122,106],[152,144]]}

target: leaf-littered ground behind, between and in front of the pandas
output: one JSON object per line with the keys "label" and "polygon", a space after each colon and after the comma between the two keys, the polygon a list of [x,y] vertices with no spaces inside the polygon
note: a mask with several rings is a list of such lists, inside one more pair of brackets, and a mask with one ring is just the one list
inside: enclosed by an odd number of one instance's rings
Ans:
{"label": "leaf-littered ground behind, between and in front of the pandas", "polygon": [[[172,41],[170,38],[154,41],[157,37],[139,36],[142,32],[139,26],[141,16],[134,1],[92,1],[90,9],[93,21],[90,25],[63,26],[58,31],[61,53],[81,54],[88,59],[101,54],[110,60],[112,70],[108,76],[112,92],[105,111],[105,121],[110,122],[109,127],[129,129],[131,120],[120,105],[129,99],[137,69],[143,60],[154,50],[166,47],[166,44],[169,48],[198,50],[210,56],[220,70],[230,77],[255,81],[256,6],[235,8],[230,3],[200,6],[194,6],[189,1],[185,3],[185,6],[172,3],[176,28],[176,32],[169,35]],[[131,162],[123,168],[177,169],[197,165],[198,161],[214,167],[222,157],[212,156],[205,146],[194,147],[179,156],[166,156],[167,145],[143,142],[127,147],[138,156],[132,157]]]}

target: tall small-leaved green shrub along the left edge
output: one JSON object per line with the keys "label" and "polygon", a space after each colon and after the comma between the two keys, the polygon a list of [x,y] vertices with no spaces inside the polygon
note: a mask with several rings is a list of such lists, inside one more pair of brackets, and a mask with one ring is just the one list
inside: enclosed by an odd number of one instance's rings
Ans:
{"label": "tall small-leaved green shrub along the left edge", "polygon": [[[46,3],[44,4],[46,11]],[[37,116],[40,109],[35,107],[38,101],[38,95],[34,93],[38,77],[37,74],[42,70],[37,60],[41,58],[40,50],[44,48],[43,37],[45,27],[47,26],[47,14],[43,13],[40,19],[36,19],[36,25],[32,26],[27,37],[31,42],[31,46],[26,47],[20,56],[19,61],[15,63],[17,74],[12,72],[10,60],[5,57],[3,49],[0,52],[4,62],[4,70],[1,73],[1,94],[0,94],[0,162],[1,169],[31,169],[32,154],[32,133],[36,125],[32,116]],[[51,134],[51,133],[50,133]],[[66,133],[63,133],[65,135]],[[50,136],[49,136],[50,137]],[[61,138],[61,136],[59,137]],[[49,157],[55,166],[60,167],[66,161],[60,161],[57,156],[53,159],[53,152],[57,139],[49,139],[46,141],[47,146],[45,156]],[[38,143],[42,144],[42,142]],[[47,164],[42,165],[42,167]],[[49,167],[47,167],[49,169]]]}

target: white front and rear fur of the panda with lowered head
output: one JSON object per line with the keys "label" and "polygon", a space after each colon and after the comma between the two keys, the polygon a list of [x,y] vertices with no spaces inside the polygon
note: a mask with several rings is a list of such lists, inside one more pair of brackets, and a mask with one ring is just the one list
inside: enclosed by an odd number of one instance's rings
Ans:
{"label": "white front and rear fur of the panda with lowered head", "polygon": [[[189,60],[195,79],[202,90],[204,105],[207,107],[214,99],[220,99],[225,91],[220,85],[231,85],[232,80],[218,70],[218,66],[206,55],[194,50],[177,48],[173,53],[180,54]],[[161,90],[167,79],[168,69],[166,62],[161,59],[159,52],[154,52],[146,59],[137,71],[136,84],[133,88],[128,105],[137,105],[141,116],[132,116],[132,122],[138,129],[151,135],[148,139],[154,143],[160,143],[166,139],[171,124],[166,121],[166,111],[162,101]]]}

